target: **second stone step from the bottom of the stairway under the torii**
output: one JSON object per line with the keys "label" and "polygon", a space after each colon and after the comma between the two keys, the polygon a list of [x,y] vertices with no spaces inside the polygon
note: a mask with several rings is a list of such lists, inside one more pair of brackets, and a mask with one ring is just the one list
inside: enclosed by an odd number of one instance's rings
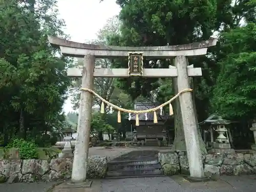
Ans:
{"label": "second stone step from the bottom of the stairway under the torii", "polygon": [[159,163],[155,164],[123,164],[123,165],[111,165],[108,166],[108,170],[136,170],[136,169],[160,169]]}

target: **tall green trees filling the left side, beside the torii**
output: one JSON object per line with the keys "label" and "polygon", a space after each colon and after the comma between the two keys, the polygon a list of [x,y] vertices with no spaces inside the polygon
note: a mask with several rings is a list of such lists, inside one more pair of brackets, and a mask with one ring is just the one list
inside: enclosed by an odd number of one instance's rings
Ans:
{"label": "tall green trees filling the left side, beside the torii", "polygon": [[[61,129],[69,59],[57,57],[47,35],[61,31],[54,0],[0,3],[0,108],[5,140]],[[35,136],[35,135],[34,135]]]}

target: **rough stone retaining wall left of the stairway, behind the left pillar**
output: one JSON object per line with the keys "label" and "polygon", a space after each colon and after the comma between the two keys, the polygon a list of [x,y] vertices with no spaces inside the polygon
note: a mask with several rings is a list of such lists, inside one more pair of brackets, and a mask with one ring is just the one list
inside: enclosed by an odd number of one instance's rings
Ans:
{"label": "rough stone retaining wall left of the stairway, behind the left pillar", "polygon": [[[88,158],[88,178],[104,178],[108,159],[91,156]],[[50,160],[0,160],[0,183],[58,181],[71,178],[72,158]]]}

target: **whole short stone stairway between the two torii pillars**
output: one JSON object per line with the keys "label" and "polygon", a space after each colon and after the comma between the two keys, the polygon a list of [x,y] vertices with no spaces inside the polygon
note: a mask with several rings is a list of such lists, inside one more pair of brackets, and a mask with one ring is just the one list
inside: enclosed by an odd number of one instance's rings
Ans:
{"label": "whole short stone stairway between the two torii pillars", "polygon": [[[144,159],[147,160],[144,160]],[[143,160],[110,161],[106,178],[158,177],[163,176],[161,165],[155,157]]]}

